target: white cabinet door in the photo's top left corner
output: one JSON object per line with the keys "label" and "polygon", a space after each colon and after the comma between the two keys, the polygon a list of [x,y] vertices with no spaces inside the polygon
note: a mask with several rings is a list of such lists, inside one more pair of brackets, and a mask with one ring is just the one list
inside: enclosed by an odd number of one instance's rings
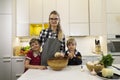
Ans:
{"label": "white cabinet door in the photo's top left corner", "polygon": [[12,0],[0,0],[0,14],[12,13]]}

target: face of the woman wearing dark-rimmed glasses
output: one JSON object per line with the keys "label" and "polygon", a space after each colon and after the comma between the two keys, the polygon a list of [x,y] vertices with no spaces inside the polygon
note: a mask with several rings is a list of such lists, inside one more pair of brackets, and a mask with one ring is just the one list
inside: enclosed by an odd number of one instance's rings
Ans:
{"label": "face of the woman wearing dark-rimmed glasses", "polygon": [[51,14],[49,18],[49,23],[51,27],[57,27],[59,23],[59,17],[56,14]]}

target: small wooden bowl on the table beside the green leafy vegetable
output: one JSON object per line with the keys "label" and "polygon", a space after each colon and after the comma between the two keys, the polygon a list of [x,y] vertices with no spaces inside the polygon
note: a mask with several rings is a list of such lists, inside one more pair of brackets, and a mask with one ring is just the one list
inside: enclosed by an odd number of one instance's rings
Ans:
{"label": "small wooden bowl on the table beside the green leafy vegetable", "polygon": [[101,65],[101,64],[94,64],[94,63],[86,63],[86,66],[87,66],[87,68],[88,68],[88,70],[91,72],[91,71],[93,71],[93,69],[94,69],[94,71],[96,72],[96,73],[98,73],[98,72],[100,72],[103,68],[104,68],[104,65]]}

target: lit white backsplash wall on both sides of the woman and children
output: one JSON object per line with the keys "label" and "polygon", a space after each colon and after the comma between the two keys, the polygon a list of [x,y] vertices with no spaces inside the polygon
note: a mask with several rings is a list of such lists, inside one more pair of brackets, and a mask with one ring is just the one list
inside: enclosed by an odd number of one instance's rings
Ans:
{"label": "lit white backsplash wall on both sides of the woman and children", "polygon": [[[70,38],[69,36],[66,37],[66,40]],[[101,44],[101,51],[103,53],[107,53],[106,49],[106,36],[74,36],[75,40],[77,41],[77,49],[81,52],[83,56],[92,56],[95,52],[95,39],[100,40]],[[29,45],[30,38],[16,38],[14,41],[14,46],[27,46]],[[67,49],[67,48],[66,48]]]}

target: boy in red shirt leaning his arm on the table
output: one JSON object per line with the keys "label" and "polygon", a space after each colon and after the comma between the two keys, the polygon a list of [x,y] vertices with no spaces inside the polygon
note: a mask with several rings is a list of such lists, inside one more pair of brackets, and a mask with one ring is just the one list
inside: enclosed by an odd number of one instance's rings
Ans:
{"label": "boy in red shirt leaning his arm on the table", "polygon": [[41,54],[40,47],[41,44],[39,39],[32,38],[29,42],[31,50],[27,53],[25,57],[25,71],[29,68],[32,69],[47,69],[46,66],[41,65]]}

